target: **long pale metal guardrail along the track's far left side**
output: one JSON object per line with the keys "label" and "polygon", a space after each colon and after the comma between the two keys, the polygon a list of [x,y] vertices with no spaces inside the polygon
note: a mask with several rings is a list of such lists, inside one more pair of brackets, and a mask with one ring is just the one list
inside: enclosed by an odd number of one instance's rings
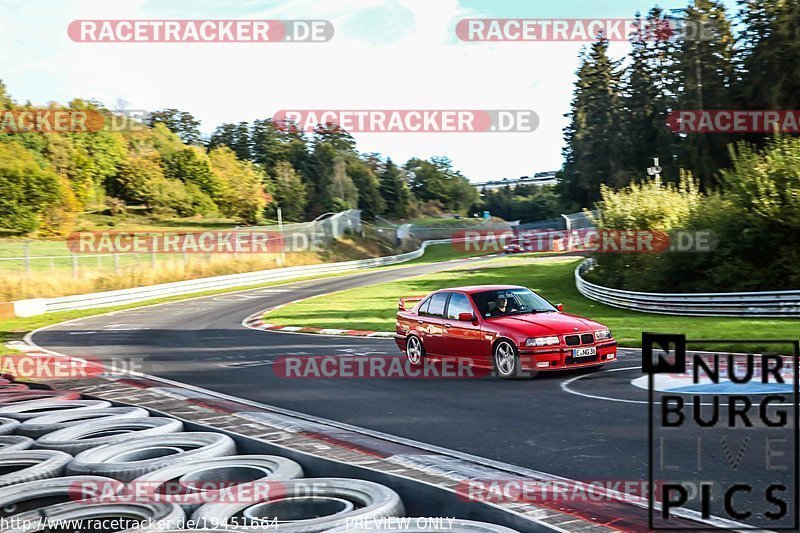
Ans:
{"label": "long pale metal guardrail along the track's far left side", "polygon": [[214,276],[187,281],[175,281],[171,283],[162,283],[159,285],[135,287],[131,289],[119,289],[91,294],[61,296],[58,298],[21,300],[14,302],[14,305],[19,310],[22,310],[22,313],[17,311],[17,316],[34,316],[43,313],[51,313],[54,311],[73,311],[78,309],[124,305],[154,300],[156,298],[165,298],[168,296],[193,294],[233,287],[247,287],[251,285],[267,283],[270,281],[282,281],[312,274],[331,274],[349,270],[362,270],[384,265],[393,265],[421,257],[425,253],[425,249],[431,244],[445,244],[449,242],[451,242],[450,239],[425,241],[417,250],[399,255],[358,259],[355,261],[342,261],[339,263],[327,263],[320,265],[273,268],[269,270],[260,270],[257,272],[227,274],[224,276]]}

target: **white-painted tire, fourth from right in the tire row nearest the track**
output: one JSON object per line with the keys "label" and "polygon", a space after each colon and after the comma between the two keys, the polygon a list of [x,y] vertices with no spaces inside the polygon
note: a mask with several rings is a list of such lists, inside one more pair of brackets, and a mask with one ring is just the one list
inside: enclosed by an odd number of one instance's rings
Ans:
{"label": "white-painted tire, fourth from right in the tire row nearest the track", "polygon": [[235,454],[233,439],[222,433],[170,433],[90,448],[75,456],[67,472],[131,481],[167,466]]}

